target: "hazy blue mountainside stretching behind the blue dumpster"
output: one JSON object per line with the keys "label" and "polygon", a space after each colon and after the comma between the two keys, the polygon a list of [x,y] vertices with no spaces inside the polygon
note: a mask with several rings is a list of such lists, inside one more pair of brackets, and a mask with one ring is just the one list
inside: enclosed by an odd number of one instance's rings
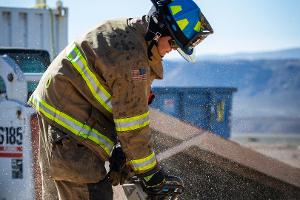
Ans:
{"label": "hazy blue mountainside stretching behind the blue dumpster", "polygon": [[300,59],[166,61],[164,69],[154,86],[237,88],[235,132],[300,133]]}

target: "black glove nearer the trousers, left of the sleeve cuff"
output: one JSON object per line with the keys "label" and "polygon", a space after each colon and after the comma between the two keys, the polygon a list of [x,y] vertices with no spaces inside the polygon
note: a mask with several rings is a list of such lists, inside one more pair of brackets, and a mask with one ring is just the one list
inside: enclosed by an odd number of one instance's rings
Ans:
{"label": "black glove nearer the trousers, left of the sleeve cuff", "polygon": [[113,186],[118,184],[122,185],[130,177],[130,168],[126,165],[126,157],[121,148],[121,145],[117,145],[111,157],[109,158],[108,179]]}

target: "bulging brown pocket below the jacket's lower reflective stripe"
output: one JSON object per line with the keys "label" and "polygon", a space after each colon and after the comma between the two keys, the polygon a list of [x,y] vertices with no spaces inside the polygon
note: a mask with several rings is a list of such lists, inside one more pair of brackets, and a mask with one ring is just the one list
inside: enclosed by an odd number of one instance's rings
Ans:
{"label": "bulging brown pocket below the jacket's lower reflective stripe", "polygon": [[[64,135],[59,129],[51,127],[57,135]],[[50,157],[50,175],[54,180],[76,182],[79,184],[96,183],[104,179],[104,161],[90,149],[73,139],[63,137],[54,140]]]}

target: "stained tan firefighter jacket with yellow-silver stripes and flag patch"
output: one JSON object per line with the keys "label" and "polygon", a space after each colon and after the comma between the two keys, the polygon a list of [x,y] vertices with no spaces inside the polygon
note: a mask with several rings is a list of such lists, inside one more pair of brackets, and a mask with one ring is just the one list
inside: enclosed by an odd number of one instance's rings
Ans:
{"label": "stained tan firefighter jacket with yellow-silver stripes and flag patch", "polygon": [[117,139],[135,173],[158,167],[151,146],[148,95],[163,76],[147,57],[142,19],[110,20],[72,42],[51,63],[29,103],[50,124],[107,160]]}

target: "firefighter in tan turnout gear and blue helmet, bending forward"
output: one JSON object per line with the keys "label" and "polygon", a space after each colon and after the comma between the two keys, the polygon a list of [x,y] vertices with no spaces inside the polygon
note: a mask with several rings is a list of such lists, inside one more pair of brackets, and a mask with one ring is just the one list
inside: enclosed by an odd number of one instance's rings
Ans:
{"label": "firefighter in tan turnout gear and blue helmet, bending forward", "polygon": [[190,60],[213,30],[192,0],[152,3],[142,18],[106,21],[71,42],[30,97],[39,119],[43,199],[112,199],[112,185],[132,175],[149,193],[176,182],[152,149],[150,87],[163,78],[165,54],[176,49]]}

